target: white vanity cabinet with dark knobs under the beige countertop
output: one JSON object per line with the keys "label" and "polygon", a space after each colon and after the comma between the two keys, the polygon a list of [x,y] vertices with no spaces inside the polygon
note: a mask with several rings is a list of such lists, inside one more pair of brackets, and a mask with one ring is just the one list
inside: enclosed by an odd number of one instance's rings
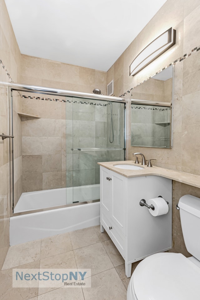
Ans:
{"label": "white vanity cabinet with dark knobs under the beige countertop", "polygon": [[[137,172],[137,171],[135,171]],[[169,211],[153,217],[141,199],[162,196]],[[100,166],[100,226],[106,230],[131,276],[132,262],[172,247],[172,180],[160,176],[127,178]]]}

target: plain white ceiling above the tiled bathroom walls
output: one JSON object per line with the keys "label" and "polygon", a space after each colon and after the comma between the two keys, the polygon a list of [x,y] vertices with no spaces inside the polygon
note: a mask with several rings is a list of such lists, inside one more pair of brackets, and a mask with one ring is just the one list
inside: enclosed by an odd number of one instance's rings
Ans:
{"label": "plain white ceiling above the tiled bathroom walls", "polygon": [[167,0],[5,0],[22,54],[108,71]]}

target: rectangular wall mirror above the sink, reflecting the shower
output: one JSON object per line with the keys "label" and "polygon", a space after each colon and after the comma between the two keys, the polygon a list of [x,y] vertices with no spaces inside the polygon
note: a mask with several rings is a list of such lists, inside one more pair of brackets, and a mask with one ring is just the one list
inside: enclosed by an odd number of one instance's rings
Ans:
{"label": "rectangular wall mirror above the sink, reflecting the shower", "polygon": [[172,148],[173,66],[132,90],[131,146]]}

